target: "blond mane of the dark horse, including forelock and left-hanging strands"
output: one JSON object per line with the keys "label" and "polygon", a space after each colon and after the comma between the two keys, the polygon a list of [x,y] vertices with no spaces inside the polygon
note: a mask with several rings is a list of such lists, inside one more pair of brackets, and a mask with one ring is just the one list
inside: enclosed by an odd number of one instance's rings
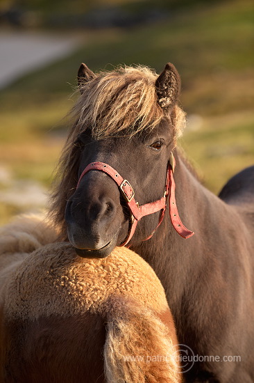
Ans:
{"label": "blond mane of the dark horse, including forelock and left-hanging strands", "polygon": [[[119,66],[111,72],[99,72],[78,88],[81,96],[72,108],[74,118],[62,152],[56,184],[51,195],[51,219],[60,225],[65,236],[65,205],[77,182],[81,148],[78,135],[89,129],[92,139],[109,136],[132,137],[151,131],[167,116],[158,104],[155,71],[142,65]],[[185,127],[185,114],[175,105],[171,110],[172,139]],[[62,239],[62,238],[61,238]]]}

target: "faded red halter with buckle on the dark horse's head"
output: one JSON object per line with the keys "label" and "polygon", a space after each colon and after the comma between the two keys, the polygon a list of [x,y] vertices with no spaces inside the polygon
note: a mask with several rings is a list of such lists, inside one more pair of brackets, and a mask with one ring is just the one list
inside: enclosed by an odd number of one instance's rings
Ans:
{"label": "faded red halter with buckle on the dark horse's head", "polygon": [[[125,246],[126,244],[128,244],[128,242],[133,237],[133,234],[135,233],[137,222],[140,221],[140,219],[142,219],[142,217],[144,217],[145,215],[153,214],[155,212],[162,210],[160,213],[158,226],[155,228],[155,230],[160,226],[160,224],[162,223],[162,219],[164,218],[164,212],[167,208],[168,195],[169,195],[169,216],[170,216],[172,225],[176,229],[178,234],[181,235],[181,237],[187,239],[189,237],[192,237],[192,235],[194,235],[194,232],[185,228],[178,214],[178,209],[176,206],[176,196],[175,196],[176,184],[175,184],[175,181],[173,180],[173,171],[175,166],[176,166],[176,161],[173,157],[173,153],[171,153],[170,159],[169,159],[169,167],[167,170],[167,181],[165,185],[164,196],[160,198],[158,201],[146,203],[146,205],[142,205],[142,206],[139,206],[139,203],[135,201],[135,198],[134,198],[135,193],[134,193],[133,187],[131,187],[130,185],[130,182],[128,182],[127,180],[124,180],[124,178],[122,178],[122,176],[119,173],[117,173],[115,169],[113,169],[108,164],[104,164],[103,162],[91,162],[91,164],[87,165],[87,167],[83,170],[78,180],[78,185],[76,189],[78,189],[78,186],[83,176],[91,170],[103,171],[103,173],[108,174],[112,178],[112,180],[116,182],[121,192],[121,195],[124,197],[126,204],[128,205],[128,208],[131,213],[130,230],[128,232],[126,240],[124,240],[121,246]],[[170,190],[170,193],[169,193],[169,190]],[[151,235],[149,235],[149,237],[146,238],[146,240],[149,240],[153,236],[153,234],[155,233],[155,230],[153,230],[153,233],[151,233]]]}

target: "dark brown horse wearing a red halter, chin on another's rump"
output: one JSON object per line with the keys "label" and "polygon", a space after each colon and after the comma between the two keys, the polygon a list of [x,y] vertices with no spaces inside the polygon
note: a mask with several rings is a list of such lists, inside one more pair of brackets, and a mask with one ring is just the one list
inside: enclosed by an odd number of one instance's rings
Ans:
{"label": "dark brown horse wearing a red halter, chin on another's rump", "polygon": [[180,343],[196,356],[187,382],[253,382],[253,167],[221,198],[201,185],[176,148],[185,115],[171,64],[160,76],[146,67],[95,75],[83,64],[78,81],[52,194],[60,238],[92,258],[128,243],[153,267]]}

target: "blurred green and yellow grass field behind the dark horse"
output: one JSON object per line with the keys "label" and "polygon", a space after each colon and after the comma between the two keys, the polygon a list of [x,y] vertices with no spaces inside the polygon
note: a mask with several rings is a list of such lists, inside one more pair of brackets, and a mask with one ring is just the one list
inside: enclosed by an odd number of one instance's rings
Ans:
{"label": "blurred green and yellow grass field behind the dark horse", "polygon": [[[158,72],[171,61],[182,77],[181,104],[189,115],[180,146],[217,193],[254,163],[252,20],[252,1],[232,0],[186,6],[135,29],[78,31],[84,44],[74,54],[1,91],[0,166],[14,179],[49,187],[82,61],[94,71],[141,63]],[[5,187],[0,182],[0,191]],[[22,209],[1,204],[0,223]]]}

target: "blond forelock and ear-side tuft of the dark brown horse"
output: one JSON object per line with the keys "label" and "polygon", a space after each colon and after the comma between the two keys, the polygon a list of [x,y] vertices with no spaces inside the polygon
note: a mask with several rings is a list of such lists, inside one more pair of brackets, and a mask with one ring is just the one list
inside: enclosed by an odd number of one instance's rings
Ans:
{"label": "blond forelock and ear-side tuft of the dark brown horse", "polygon": [[[99,72],[79,90],[81,96],[71,111],[76,120],[74,135],[89,128],[93,139],[108,136],[134,136],[153,130],[165,117],[158,104],[155,81],[158,75],[142,65],[120,66],[112,72]],[[176,108],[178,124],[173,135],[179,135],[180,108]],[[182,121],[183,122],[183,121]]]}

